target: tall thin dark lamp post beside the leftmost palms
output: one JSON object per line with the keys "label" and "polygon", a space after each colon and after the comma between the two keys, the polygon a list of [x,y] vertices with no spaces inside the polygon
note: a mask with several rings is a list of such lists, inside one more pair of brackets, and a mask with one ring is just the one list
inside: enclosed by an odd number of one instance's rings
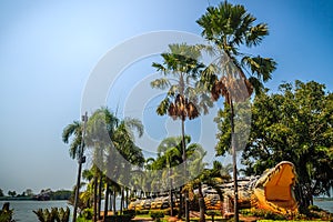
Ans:
{"label": "tall thin dark lamp post beside the leftmost palms", "polygon": [[77,212],[78,212],[78,203],[79,203],[79,194],[80,194],[82,163],[85,162],[85,157],[83,155],[83,148],[84,148],[84,135],[85,135],[87,121],[88,121],[88,114],[85,112],[85,114],[82,115],[83,130],[82,130],[82,140],[81,140],[81,145],[80,145],[80,150],[79,150],[79,160],[78,160],[78,162],[79,162],[79,170],[78,170],[78,179],[77,179],[77,188],[75,188],[73,222],[77,221]]}

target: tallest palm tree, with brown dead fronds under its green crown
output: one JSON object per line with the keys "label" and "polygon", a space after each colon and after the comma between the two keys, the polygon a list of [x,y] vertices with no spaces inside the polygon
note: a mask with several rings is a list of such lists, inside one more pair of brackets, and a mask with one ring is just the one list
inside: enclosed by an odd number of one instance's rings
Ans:
{"label": "tallest palm tree, with brown dead fronds under its green crown", "polygon": [[[233,6],[226,1],[218,7],[209,7],[196,22],[203,28],[202,36],[209,40],[215,52],[218,62],[209,65],[202,74],[202,81],[210,89],[214,100],[224,97],[231,110],[231,133],[234,137],[233,103],[249,98],[253,88],[260,92],[262,82],[271,79],[276,63],[273,59],[240,52],[240,47],[256,47],[269,34],[268,24],[254,24],[254,18],[243,6]],[[219,70],[216,69],[219,68]],[[250,77],[246,78],[245,73]],[[219,74],[221,74],[219,77]],[[242,87],[244,85],[244,87]],[[243,90],[242,90],[243,89]],[[234,179],[234,220],[239,220],[236,153],[234,139],[231,140]]]}

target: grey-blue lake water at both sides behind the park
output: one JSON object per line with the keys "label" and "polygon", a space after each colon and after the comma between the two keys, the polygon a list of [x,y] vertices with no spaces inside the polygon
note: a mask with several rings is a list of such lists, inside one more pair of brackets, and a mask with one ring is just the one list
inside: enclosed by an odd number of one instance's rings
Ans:
{"label": "grey-blue lake water at both sides behind the park", "polygon": [[[0,208],[8,201],[0,201]],[[67,201],[9,201],[10,209],[14,210],[13,219],[17,222],[36,222],[37,215],[32,212],[38,209],[51,209],[51,208],[67,208],[69,206],[71,213],[73,208],[67,203]],[[333,201],[314,201],[314,204],[333,213]],[[71,220],[70,220],[71,221]]]}

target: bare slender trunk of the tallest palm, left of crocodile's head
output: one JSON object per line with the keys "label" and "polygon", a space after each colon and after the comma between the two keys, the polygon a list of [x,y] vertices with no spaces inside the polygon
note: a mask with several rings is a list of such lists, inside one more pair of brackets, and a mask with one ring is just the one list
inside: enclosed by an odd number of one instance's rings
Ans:
{"label": "bare slender trunk of the tallest palm, left of crocodile's head", "polygon": [[232,98],[229,94],[230,101],[230,124],[231,124],[231,148],[232,148],[232,164],[233,164],[233,186],[234,186],[234,221],[239,221],[239,186],[238,186],[238,164],[236,164],[236,148],[234,134],[234,110]]}

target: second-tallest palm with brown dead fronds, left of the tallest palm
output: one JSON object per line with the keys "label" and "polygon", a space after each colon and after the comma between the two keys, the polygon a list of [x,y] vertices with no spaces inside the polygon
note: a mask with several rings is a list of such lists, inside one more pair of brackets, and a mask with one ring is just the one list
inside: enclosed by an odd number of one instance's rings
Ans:
{"label": "second-tallest palm with brown dead fronds, left of the tallest palm", "polygon": [[[168,114],[173,120],[181,120],[182,129],[182,158],[184,162],[184,172],[186,173],[185,157],[185,130],[186,119],[195,119],[200,115],[201,109],[204,113],[211,107],[210,100],[204,93],[200,93],[195,87],[199,74],[204,68],[198,59],[201,57],[200,48],[196,46],[170,44],[170,52],[162,53],[163,63],[153,63],[158,71],[164,75],[151,82],[152,88],[169,89],[167,97],[161,101],[157,109],[159,115]],[[206,102],[205,102],[206,101]],[[185,178],[184,178],[185,179]],[[186,193],[185,193],[186,195]],[[186,198],[185,198],[186,199]],[[188,201],[185,201],[185,218],[189,221]]]}

